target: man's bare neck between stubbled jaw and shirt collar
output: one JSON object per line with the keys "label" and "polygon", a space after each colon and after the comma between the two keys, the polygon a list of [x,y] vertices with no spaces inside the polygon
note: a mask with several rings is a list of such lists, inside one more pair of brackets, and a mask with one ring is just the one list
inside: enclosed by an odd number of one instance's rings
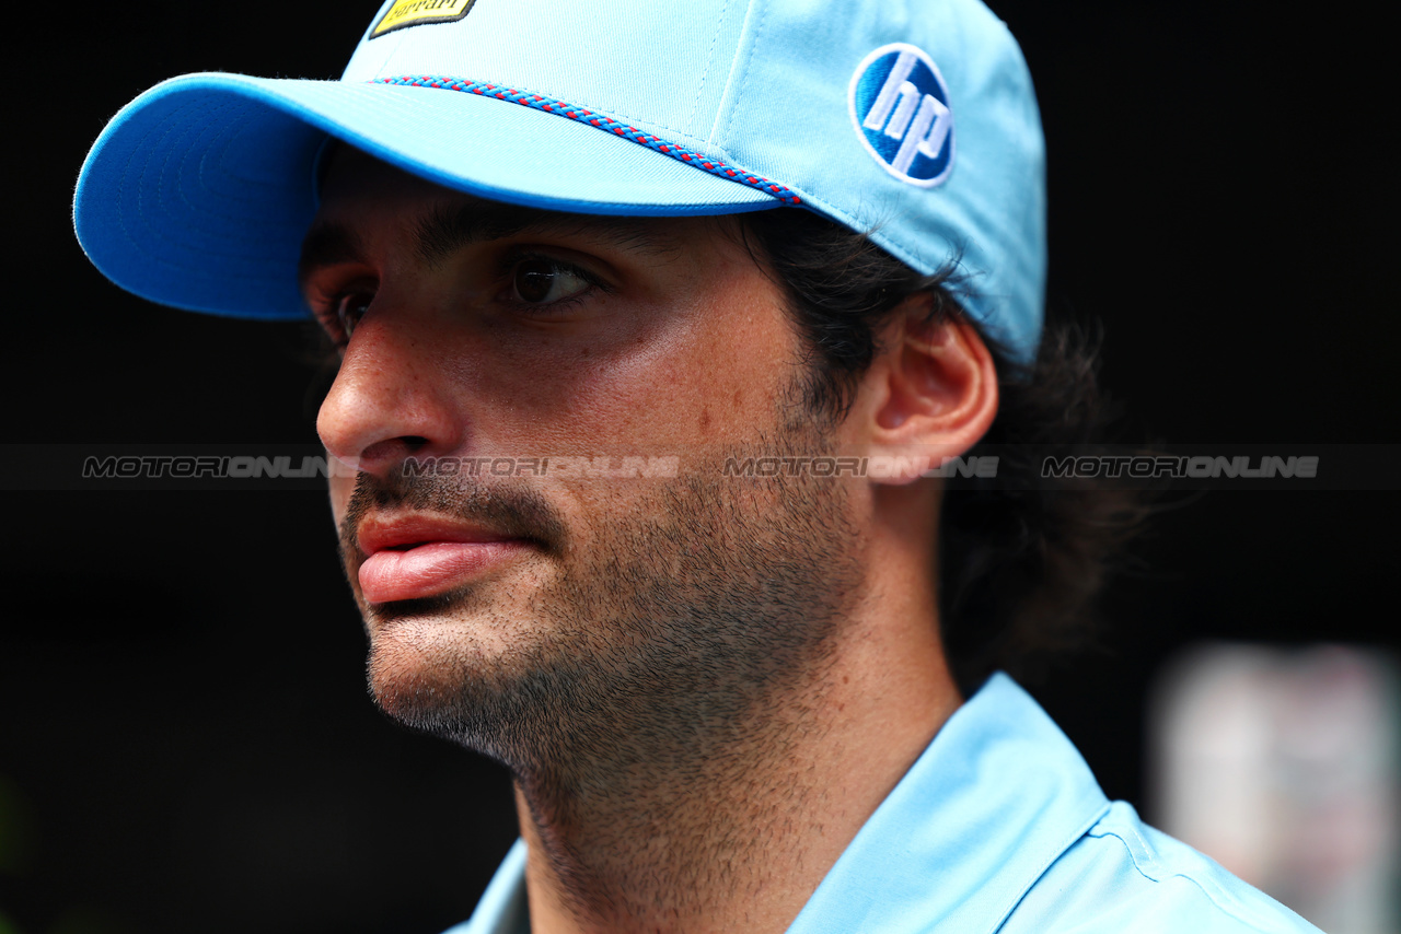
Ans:
{"label": "man's bare neck between stubbled jaw and shirt collar", "polygon": [[848,622],[818,676],[743,720],[647,724],[650,742],[633,724],[567,777],[518,772],[532,930],[786,930],[961,702],[932,592]]}

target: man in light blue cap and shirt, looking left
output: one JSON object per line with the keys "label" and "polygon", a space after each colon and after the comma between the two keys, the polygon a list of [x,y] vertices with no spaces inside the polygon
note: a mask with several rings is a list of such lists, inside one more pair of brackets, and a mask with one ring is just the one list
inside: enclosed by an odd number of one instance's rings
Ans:
{"label": "man in light blue cap and shirt, looking left", "polygon": [[118,284],[336,344],[370,688],[516,779],[464,930],[1310,930],[989,676],[1135,518],[1014,479],[1100,417],[1041,148],[976,0],[395,0],[94,146]]}

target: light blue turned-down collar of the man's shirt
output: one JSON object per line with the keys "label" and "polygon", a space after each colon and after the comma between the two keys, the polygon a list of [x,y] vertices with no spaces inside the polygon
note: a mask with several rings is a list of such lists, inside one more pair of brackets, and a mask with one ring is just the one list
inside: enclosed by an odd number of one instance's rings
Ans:
{"label": "light blue turned-down collar of the man's shirt", "polygon": [[[993,931],[1108,807],[1051,717],[996,674],[876,808],[789,934]],[[517,842],[471,921],[448,934],[514,934],[525,912]]]}

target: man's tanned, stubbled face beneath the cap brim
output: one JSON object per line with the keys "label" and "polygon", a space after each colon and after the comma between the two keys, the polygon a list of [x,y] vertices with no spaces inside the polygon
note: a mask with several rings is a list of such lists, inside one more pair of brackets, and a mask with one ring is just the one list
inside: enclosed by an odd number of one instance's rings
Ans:
{"label": "man's tanned, stubbled face beneath the cap brim", "polygon": [[723,476],[839,441],[796,400],[807,353],[727,224],[521,210],[335,158],[303,262],[345,342],[318,430],[360,471],[331,499],[391,714],[521,767],[636,762],[820,679],[863,507]]}

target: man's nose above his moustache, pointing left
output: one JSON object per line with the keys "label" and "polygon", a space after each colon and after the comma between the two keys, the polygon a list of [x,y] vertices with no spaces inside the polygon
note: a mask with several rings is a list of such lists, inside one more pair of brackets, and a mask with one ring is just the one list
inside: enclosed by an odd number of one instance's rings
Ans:
{"label": "man's nose above his moustache, pointing left", "polygon": [[405,458],[457,451],[467,426],[432,328],[380,304],[350,336],[317,434],[331,456],[384,476]]}

